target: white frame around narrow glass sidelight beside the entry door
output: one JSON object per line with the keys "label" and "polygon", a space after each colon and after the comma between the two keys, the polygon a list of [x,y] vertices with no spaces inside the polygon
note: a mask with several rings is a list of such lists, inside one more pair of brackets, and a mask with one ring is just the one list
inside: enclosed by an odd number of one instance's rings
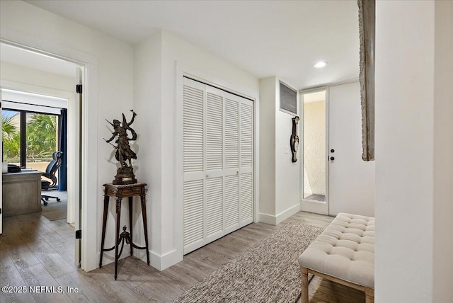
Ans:
{"label": "white frame around narrow glass sidelight beside the entry door", "polygon": [[[301,178],[300,178],[300,209],[304,212],[314,212],[321,215],[328,215],[329,213],[329,200],[328,200],[328,161],[326,160],[326,165],[324,167],[326,174],[325,174],[325,186],[326,186],[326,201],[319,202],[316,200],[308,200],[304,199],[304,95],[309,93],[319,93],[321,91],[325,91],[325,108],[326,108],[326,117],[325,117],[325,125],[326,125],[326,149],[324,152],[325,159],[328,159],[328,86],[317,86],[314,88],[306,88],[299,91],[299,108],[300,108],[300,115],[302,116],[302,131],[299,131],[299,134],[302,139],[299,140],[299,150],[301,151]],[[302,142],[302,144],[300,143]]]}

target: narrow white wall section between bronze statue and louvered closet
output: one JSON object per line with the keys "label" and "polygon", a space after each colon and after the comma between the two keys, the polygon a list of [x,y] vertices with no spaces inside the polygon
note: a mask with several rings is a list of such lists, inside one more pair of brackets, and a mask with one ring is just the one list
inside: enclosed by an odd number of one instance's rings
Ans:
{"label": "narrow white wall section between bronze statue and louvered closet", "polygon": [[[161,33],[134,46],[134,108],[137,110],[136,131],[137,157],[141,165],[137,167],[137,180],[147,183],[147,218],[151,265],[160,262],[161,230]],[[137,215],[140,215],[138,212]],[[144,246],[142,220],[134,226],[134,239]],[[144,251],[135,250],[134,255],[146,260]]]}

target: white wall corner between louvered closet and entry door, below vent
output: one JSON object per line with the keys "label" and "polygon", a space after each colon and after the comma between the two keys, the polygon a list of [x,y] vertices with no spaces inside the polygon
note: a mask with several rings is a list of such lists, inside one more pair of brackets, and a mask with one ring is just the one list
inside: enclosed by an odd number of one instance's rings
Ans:
{"label": "white wall corner between louvered closet and entry door, below vent", "polygon": [[260,221],[268,224],[300,210],[300,159],[292,163],[289,146],[292,118],[280,111],[280,79],[260,79]]}

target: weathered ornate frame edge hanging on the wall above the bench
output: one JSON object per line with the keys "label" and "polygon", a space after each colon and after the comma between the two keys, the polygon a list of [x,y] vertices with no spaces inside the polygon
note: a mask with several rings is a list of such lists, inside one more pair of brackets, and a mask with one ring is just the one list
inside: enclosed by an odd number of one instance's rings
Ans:
{"label": "weathered ornate frame edge hanging on the wall above the bench", "polygon": [[362,99],[362,159],[374,160],[374,39],[375,1],[357,0],[360,31],[360,97]]}

